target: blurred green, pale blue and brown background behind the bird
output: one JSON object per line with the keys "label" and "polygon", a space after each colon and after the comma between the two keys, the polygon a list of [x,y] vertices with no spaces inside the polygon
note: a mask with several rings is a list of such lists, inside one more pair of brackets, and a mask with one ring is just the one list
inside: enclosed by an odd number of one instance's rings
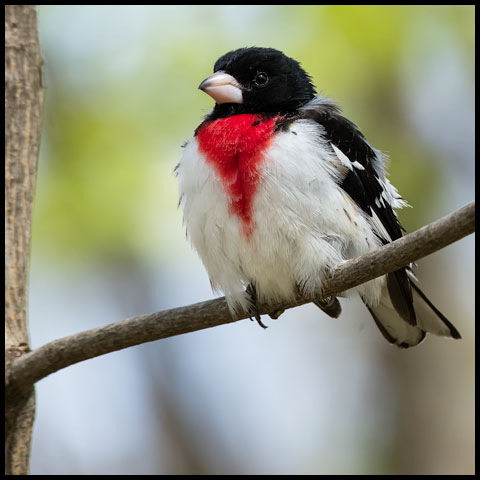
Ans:
{"label": "blurred green, pale blue and brown background behind the bird", "polygon": [[[32,347],[213,298],[173,169],[223,53],[299,60],[390,158],[408,231],[474,198],[473,6],[42,6]],[[473,474],[474,237],[419,263],[463,339],[358,300],[153,342],[37,384],[32,474]]]}

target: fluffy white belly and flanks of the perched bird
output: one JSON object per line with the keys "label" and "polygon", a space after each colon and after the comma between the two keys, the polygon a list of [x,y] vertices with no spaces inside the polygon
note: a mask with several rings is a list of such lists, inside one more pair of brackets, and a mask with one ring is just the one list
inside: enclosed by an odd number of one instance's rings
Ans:
{"label": "fluffy white belly and flanks of the perched bird", "polygon": [[[339,162],[314,122],[297,121],[276,134],[260,166],[247,237],[196,138],[185,146],[178,169],[184,223],[212,287],[231,309],[247,307],[249,283],[262,302],[290,299],[297,286],[319,292],[328,269],[378,247],[369,220],[335,183]],[[368,303],[378,302],[382,283],[359,289]]]}

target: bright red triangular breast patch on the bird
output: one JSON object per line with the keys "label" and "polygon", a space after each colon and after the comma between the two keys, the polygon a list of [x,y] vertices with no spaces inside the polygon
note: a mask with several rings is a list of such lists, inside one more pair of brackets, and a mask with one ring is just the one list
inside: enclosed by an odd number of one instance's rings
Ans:
{"label": "bright red triangular breast patch on the bird", "polygon": [[206,123],[197,132],[199,149],[222,180],[230,213],[240,217],[247,237],[254,227],[252,205],[259,167],[272,142],[275,121],[261,115],[233,115]]}

